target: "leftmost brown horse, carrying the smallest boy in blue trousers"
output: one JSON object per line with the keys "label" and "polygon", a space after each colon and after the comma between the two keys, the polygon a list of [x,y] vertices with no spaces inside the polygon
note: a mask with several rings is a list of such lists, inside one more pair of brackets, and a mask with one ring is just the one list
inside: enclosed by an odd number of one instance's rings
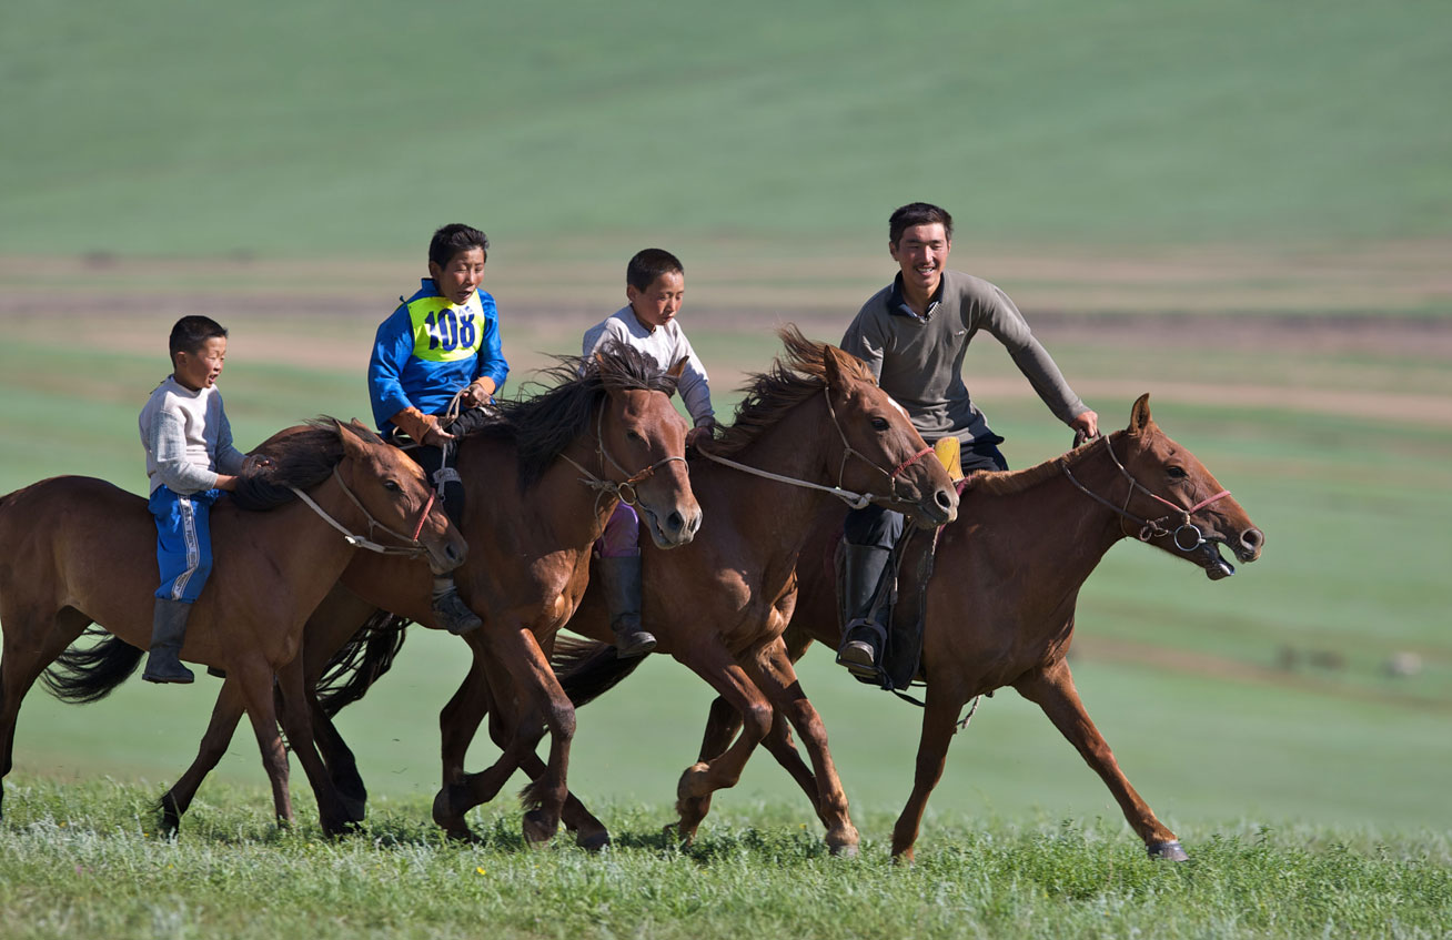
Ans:
{"label": "leftmost brown horse, carrying the smallest boy in blue trousers", "polygon": [[[303,621],[354,556],[335,527],[414,532],[402,537],[412,544],[399,548],[427,556],[440,573],[459,566],[468,548],[418,467],[356,422],[315,422],[273,457],[272,469],[245,477],[212,514],[216,566],[195,605],[182,659],[227,672],[219,698],[251,717],[277,815],[290,821],[273,677],[285,696],[303,701],[296,656]],[[301,490],[308,490],[302,500],[295,498]],[[152,592],[161,580],[155,541],[147,502],[103,480],[54,477],[0,499],[0,776],[10,772],[20,701],[89,624],[116,637],[103,644],[110,656],[97,654],[107,663],[103,680],[49,673],[52,690],[94,701],[135,670],[150,644]],[[286,709],[283,722],[308,778],[325,782],[306,709]],[[319,789],[318,809],[333,833],[347,815],[328,792]]]}

